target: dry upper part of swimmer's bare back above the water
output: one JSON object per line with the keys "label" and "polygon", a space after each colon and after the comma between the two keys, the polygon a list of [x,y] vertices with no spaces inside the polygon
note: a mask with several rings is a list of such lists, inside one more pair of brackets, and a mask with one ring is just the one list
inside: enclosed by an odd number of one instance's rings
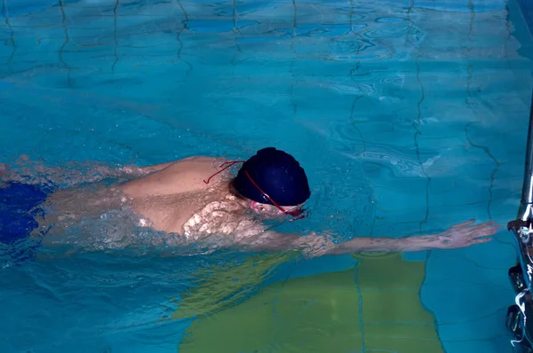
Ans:
{"label": "dry upper part of swimmer's bare back above the water", "polygon": [[156,231],[184,234],[184,224],[207,204],[223,200],[228,193],[228,178],[219,175],[222,159],[189,157],[144,169],[150,172],[120,186],[139,216],[144,216]]}

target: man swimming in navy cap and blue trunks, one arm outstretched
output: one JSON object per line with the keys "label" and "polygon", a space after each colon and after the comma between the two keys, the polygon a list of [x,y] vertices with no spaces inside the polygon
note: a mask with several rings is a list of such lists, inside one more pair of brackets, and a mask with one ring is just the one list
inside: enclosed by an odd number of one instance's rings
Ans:
{"label": "man swimming in navy cap and blue trunks, one arm outstretched", "polygon": [[[229,167],[241,163],[235,176]],[[232,246],[271,251],[301,249],[315,256],[469,247],[489,241],[489,236],[499,228],[493,222],[472,225],[474,220],[471,220],[441,234],[397,239],[357,237],[338,245],[329,234],[312,233],[300,237],[269,230],[262,221],[305,216],[303,207],[311,195],[306,173],[298,161],[273,147],[260,150],[248,161],[189,157],[144,168],[126,167],[123,171],[131,175],[132,180],[105,187],[85,185],[82,189],[70,188],[50,195],[32,185],[7,181],[0,189],[0,198],[3,198],[0,201],[4,209],[16,203],[13,191],[19,190],[24,200],[30,200],[31,205],[21,208],[27,218],[28,215],[37,216],[32,214],[36,204],[52,209],[54,216],[42,217],[41,227],[53,224],[60,228],[58,224],[72,224],[87,209],[101,212],[106,208],[131,207],[140,226],[162,231],[170,240],[169,244],[172,239],[201,242],[219,238]],[[72,197],[79,196],[80,192],[84,192],[83,203],[79,202],[79,197]],[[39,224],[20,227],[20,219],[15,218],[0,214],[0,242],[13,241],[28,230],[38,229]],[[46,236],[44,244],[45,239]]]}

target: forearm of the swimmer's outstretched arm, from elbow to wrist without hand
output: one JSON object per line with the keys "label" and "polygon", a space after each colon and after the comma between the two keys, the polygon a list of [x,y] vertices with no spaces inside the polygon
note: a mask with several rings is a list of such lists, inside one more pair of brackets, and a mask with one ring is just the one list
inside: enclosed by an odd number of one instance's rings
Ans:
{"label": "forearm of the swimmer's outstretched arm, from elbow to wrist without hand", "polygon": [[326,255],[345,255],[365,251],[410,252],[442,248],[439,234],[406,238],[355,238],[333,247]]}

